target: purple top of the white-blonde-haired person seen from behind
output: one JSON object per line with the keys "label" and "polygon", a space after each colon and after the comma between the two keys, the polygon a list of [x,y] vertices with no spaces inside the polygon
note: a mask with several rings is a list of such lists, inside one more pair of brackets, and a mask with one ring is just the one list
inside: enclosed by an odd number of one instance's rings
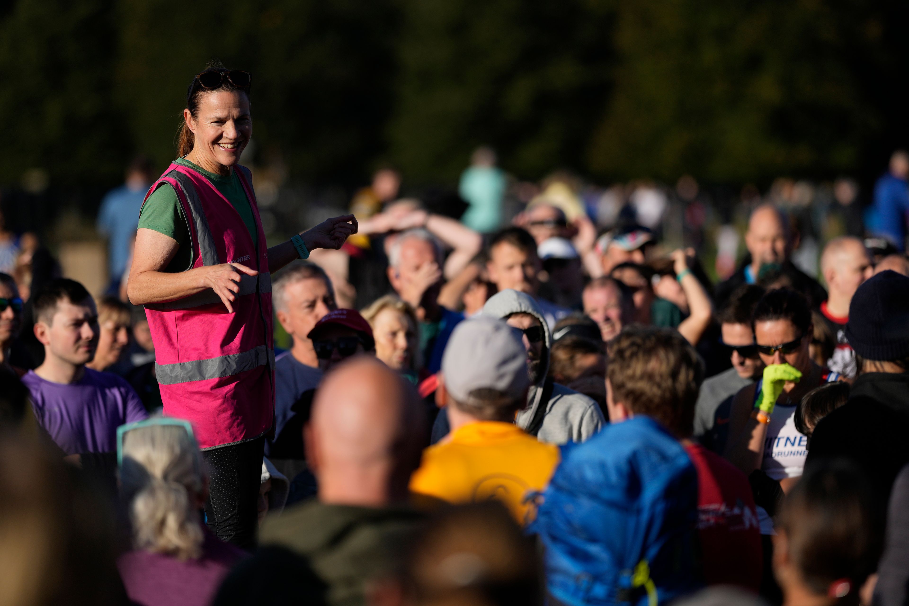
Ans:
{"label": "purple top of the white-blonde-haired person seen from behind", "polygon": [[208,606],[225,575],[246,552],[208,529],[198,560],[180,561],[149,551],[127,551],[116,562],[130,601],[141,606]]}

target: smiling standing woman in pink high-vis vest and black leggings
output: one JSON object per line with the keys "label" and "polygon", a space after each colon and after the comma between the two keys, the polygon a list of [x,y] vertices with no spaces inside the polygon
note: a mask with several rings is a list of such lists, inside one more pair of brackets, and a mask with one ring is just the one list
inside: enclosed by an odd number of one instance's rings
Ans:
{"label": "smiling standing woman in pink high-vis vest and black leggings", "polygon": [[209,527],[255,544],[265,434],[275,406],[271,275],[340,248],[354,215],[266,248],[249,170],[252,78],[220,65],[186,93],[179,156],[142,206],[126,292],[145,305],[164,412],[191,422],[210,471]]}

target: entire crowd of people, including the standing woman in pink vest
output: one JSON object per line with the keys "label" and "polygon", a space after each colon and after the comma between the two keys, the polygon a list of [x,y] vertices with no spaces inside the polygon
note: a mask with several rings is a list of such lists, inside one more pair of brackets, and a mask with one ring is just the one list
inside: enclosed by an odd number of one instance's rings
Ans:
{"label": "entire crowd of people, including the standing woman in pink vest", "polygon": [[817,276],[774,200],[714,283],[486,148],[269,247],[251,84],[105,199],[106,293],[0,273],[0,606],[909,603],[904,153]]}

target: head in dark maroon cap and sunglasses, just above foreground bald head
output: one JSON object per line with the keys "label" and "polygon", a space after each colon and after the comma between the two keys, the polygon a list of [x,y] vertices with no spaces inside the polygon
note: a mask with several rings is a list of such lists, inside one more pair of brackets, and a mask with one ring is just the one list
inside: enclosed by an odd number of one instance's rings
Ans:
{"label": "head in dark maroon cap and sunglasses, just above foreground bald head", "polygon": [[336,309],[315,323],[309,332],[315,356],[322,373],[357,353],[375,355],[373,329],[359,312],[353,309]]}

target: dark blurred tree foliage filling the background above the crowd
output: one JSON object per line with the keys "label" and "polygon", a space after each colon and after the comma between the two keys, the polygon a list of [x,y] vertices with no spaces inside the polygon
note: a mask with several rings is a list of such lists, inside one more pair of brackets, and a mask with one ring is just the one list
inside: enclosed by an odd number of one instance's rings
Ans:
{"label": "dark blurred tree foliage filling the background above the crowd", "polygon": [[207,61],[254,74],[257,154],[309,184],[880,172],[909,139],[904,0],[0,0],[0,185],[163,168]]}

